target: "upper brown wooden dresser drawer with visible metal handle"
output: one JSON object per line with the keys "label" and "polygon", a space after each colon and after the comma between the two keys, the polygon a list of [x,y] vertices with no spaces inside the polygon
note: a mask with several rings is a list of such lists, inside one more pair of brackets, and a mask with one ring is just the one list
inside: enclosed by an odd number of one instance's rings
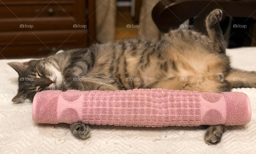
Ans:
{"label": "upper brown wooden dresser drawer with visible metal handle", "polygon": [[[73,29],[85,25],[86,3],[82,0],[2,0],[0,31]],[[20,25],[30,25],[27,28]],[[32,26],[33,28],[31,28]]]}

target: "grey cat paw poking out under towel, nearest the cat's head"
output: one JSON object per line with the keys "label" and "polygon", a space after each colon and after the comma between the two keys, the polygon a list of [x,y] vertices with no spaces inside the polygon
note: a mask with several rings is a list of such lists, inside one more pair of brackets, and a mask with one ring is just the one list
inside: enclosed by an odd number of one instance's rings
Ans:
{"label": "grey cat paw poking out under towel, nearest the cat's head", "polygon": [[78,139],[86,139],[90,136],[90,127],[81,122],[71,123],[70,130]]}

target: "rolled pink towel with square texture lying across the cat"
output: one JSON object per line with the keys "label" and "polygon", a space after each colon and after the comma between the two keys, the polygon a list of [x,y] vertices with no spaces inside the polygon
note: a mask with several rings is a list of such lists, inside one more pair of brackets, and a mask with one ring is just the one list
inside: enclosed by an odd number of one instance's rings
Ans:
{"label": "rolled pink towel with square texture lying across the cat", "polygon": [[251,107],[241,92],[56,90],[35,95],[32,117],[39,123],[116,126],[243,125],[251,119]]}

